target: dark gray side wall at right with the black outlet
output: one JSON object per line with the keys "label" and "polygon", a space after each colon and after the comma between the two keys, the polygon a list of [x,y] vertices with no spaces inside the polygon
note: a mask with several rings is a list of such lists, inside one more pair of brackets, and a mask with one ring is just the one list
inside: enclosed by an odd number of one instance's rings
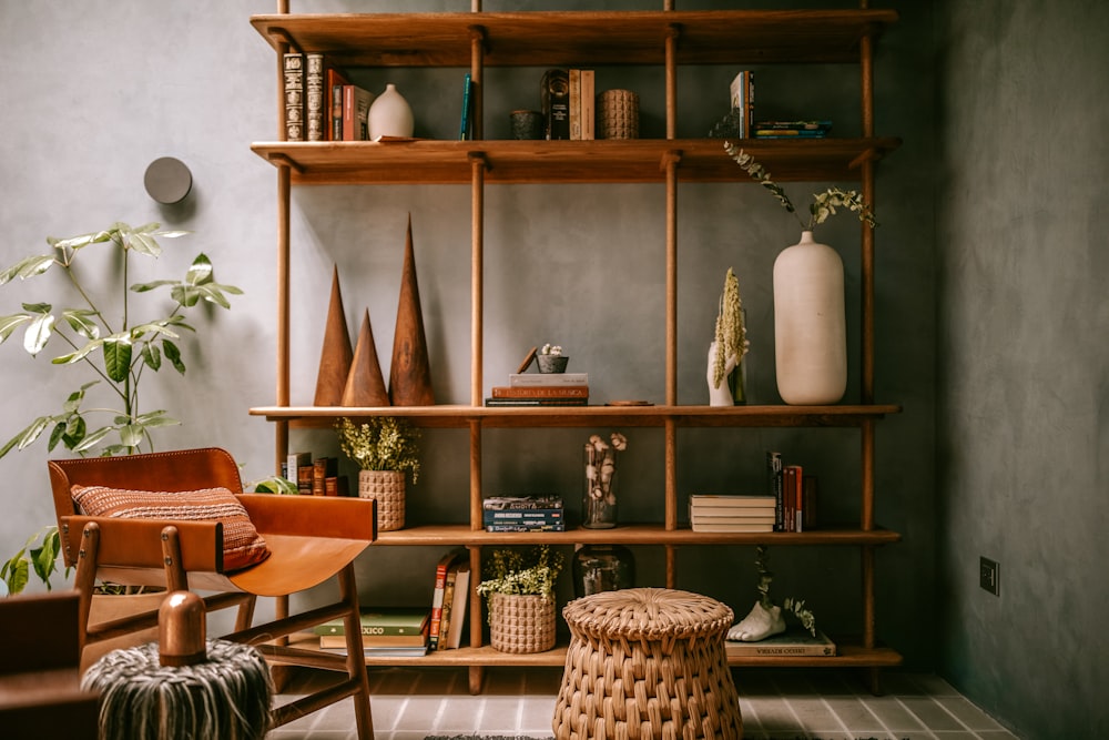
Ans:
{"label": "dark gray side wall at right with the black outlet", "polygon": [[939,667],[1020,737],[1101,738],[1109,9],[939,19]]}

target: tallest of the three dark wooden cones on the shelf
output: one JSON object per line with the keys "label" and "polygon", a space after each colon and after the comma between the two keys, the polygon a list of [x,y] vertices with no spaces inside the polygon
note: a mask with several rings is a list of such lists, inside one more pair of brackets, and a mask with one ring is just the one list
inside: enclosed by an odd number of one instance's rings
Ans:
{"label": "tallest of the three dark wooden cones on the shelf", "polygon": [[419,306],[416,282],[416,257],[413,252],[413,217],[408,215],[405,240],[405,263],[400,272],[400,301],[397,306],[397,331],[393,335],[393,365],[389,367],[389,398],[394,406],[431,406],[431,365],[427,357],[424,315]]}

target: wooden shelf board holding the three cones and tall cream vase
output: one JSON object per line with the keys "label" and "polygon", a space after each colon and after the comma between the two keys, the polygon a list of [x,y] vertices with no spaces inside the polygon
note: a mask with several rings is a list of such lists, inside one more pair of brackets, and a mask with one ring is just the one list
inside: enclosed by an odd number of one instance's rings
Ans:
{"label": "wooden shelf board holding the three cones and tall cream vase", "polygon": [[896,404],[843,406],[257,406],[252,416],[274,422],[287,419],[297,427],[329,426],[336,418],[404,416],[421,427],[552,428],[608,426],[663,426],[673,419],[682,427],[851,427],[897,414]]}

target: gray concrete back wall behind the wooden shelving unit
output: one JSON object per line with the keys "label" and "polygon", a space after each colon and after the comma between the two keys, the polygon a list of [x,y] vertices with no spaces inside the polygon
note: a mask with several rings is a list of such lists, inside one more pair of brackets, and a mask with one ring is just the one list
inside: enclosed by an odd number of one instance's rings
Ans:
{"label": "gray concrete back wall behind the wooden shelving unit", "polygon": [[[459,3],[305,3],[311,10],[444,10]],[[468,6],[468,3],[465,3]],[[509,3],[487,3],[488,10]],[[551,9],[657,8],[661,3],[560,2]],[[740,3],[729,3],[737,7]],[[745,3],[744,3],[745,4]],[[775,2],[762,3],[777,7]],[[904,4],[904,3],[899,3]],[[721,3],[701,3],[701,7]],[[686,7],[686,6],[682,6]],[[689,6],[692,8],[693,6]],[[157,220],[192,230],[166,242],[154,275],[176,275],[200,251],[217,278],[241,286],[230,312],[197,318],[185,344],[189,372],[165,371],[149,384],[147,408],[184,420],[159,437],[160,448],[220,445],[244,464],[244,477],[273,465],[273,429],[250,417],[274,401],[276,306],[274,169],[250,151],[276,130],[276,64],[250,27],[267,1],[157,2],[43,0],[6,6],[0,23],[0,263],[44,250],[47,235],[100,229],[112,221]],[[877,399],[904,406],[879,425],[877,520],[904,541],[878,557],[878,631],[908,665],[932,667],[936,637],[935,382],[933,239],[932,12],[899,8],[903,22],[878,45],[878,132],[904,145],[878,175],[879,316]],[[450,136],[460,71],[363,72],[372,88],[394,78],[416,108],[417,134]],[[488,135],[507,135],[506,113],[535,105],[541,70],[490,70]],[[699,136],[725,112],[734,69],[683,70],[679,134]],[[756,69],[760,112],[775,118],[832,118],[842,135],[858,132],[858,72],[853,65]],[[658,70],[603,70],[598,84],[634,87],[644,135],[662,131]],[[446,97],[444,97],[446,95]],[[195,179],[184,207],[161,209],[143,192],[150,161],[174,155]],[[791,184],[798,202],[827,183]],[[848,183],[843,183],[848,184]],[[661,402],[664,368],[663,205],[661,185],[505,186],[486,195],[486,386],[505,378],[527,347],[558,342],[571,369],[591,374],[598,399]],[[411,214],[424,317],[440,402],[468,402],[469,191],[466,187],[312,187],[293,202],[293,403],[312,399],[332,266],[338,264],[352,331],[368,310],[388,372],[404,227]],[[750,322],[752,403],[779,403],[774,388],[770,278],[774,257],[800,227],[761,189],[749,184],[682,186],[679,194],[679,399],[706,403],[704,362],[726,268],[740,277]],[[818,235],[844,256],[849,288],[858,285],[858,227],[842,219]],[[103,267],[102,270],[108,270]],[[93,271],[95,272],[95,271]],[[0,288],[0,314],[35,297],[32,284]],[[858,301],[848,302],[848,401],[857,399]],[[31,359],[18,343],[0,347],[6,401],[0,438],[51,413],[85,375]],[[603,429],[602,429],[603,430]],[[495,432],[485,444],[488,493],[580,490],[580,445],[591,429]],[[662,436],[633,429],[621,479],[627,520],[661,519]],[[410,520],[462,521],[467,446],[460,432],[429,432],[425,475],[410,490]],[[776,448],[821,477],[825,520],[857,518],[858,435],[852,430],[683,430],[679,488],[759,490],[763,454]],[[337,454],[327,430],[296,433],[294,446]],[[40,443],[0,460],[8,481],[0,551],[14,550],[52,518]],[[346,472],[354,474],[353,467]],[[642,585],[663,582],[662,553],[638,547]],[[380,548],[363,567],[364,598],[419,600],[439,553]],[[686,548],[680,584],[745,612],[755,594],[753,548]],[[777,598],[805,598],[830,632],[857,632],[857,553],[846,548],[775,548]],[[1006,562],[1003,557],[1003,562]],[[967,571],[969,576],[969,571]],[[569,579],[564,579],[569,595]]]}

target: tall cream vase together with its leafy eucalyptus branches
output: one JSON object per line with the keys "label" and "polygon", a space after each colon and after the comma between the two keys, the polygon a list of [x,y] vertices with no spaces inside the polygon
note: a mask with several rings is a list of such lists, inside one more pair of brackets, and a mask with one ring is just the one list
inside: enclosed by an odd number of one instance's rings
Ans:
{"label": "tall cream vase together with its leafy eucalyptus branches", "polygon": [[874,212],[856,191],[828,187],[815,193],[803,220],[785,191],[750,154],[724,149],[801,223],[801,241],[774,261],[774,367],[782,401],[794,405],[838,403],[847,388],[847,320],[843,260],[813,239],[813,230],[841,210],[873,229]]}

